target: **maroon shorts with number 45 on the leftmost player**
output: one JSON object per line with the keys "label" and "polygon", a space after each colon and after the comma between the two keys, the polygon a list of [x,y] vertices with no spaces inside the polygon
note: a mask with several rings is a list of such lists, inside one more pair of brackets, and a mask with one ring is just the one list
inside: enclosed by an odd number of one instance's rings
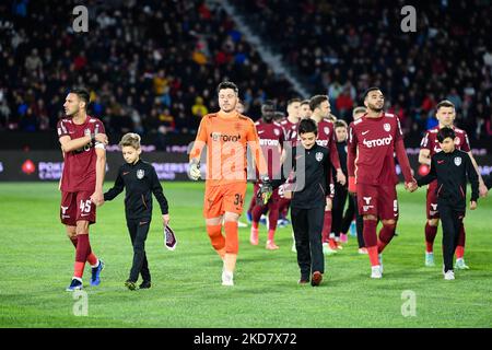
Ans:
{"label": "maroon shorts with number 45 on the leftmost player", "polygon": [[91,201],[92,191],[61,192],[61,223],[75,226],[80,220],[95,223],[96,206]]}

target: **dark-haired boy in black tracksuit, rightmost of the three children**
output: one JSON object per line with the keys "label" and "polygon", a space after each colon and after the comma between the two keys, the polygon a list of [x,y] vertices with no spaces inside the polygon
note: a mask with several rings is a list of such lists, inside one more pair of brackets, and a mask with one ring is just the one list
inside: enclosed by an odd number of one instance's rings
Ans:
{"label": "dark-haired boy in black tracksuit, rightmost of the three children", "polygon": [[465,218],[467,178],[471,184],[470,210],[477,208],[479,198],[478,174],[470,156],[455,148],[455,138],[452,128],[438,131],[437,141],[443,151],[432,156],[431,171],[417,182],[423,186],[437,178],[437,210],[443,222],[443,272],[446,280],[455,279],[453,256],[458,244],[459,226]]}

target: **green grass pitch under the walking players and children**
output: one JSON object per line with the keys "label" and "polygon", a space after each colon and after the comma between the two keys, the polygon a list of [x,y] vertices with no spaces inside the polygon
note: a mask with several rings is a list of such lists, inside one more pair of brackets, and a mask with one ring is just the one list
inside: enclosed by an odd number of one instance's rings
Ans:
{"label": "green grass pitch under the walking players and children", "polygon": [[[105,190],[109,186],[105,184]],[[131,292],[124,287],[132,249],[121,194],[98,209],[97,224],[91,228],[93,250],[106,268],[102,284],[92,288],[86,267],[87,315],[75,316],[74,303],[80,301],[65,291],[74,249],[58,219],[57,184],[0,184],[0,327],[492,326],[491,198],[481,199],[475,212],[467,211],[465,259],[471,269],[457,271],[455,281],[445,281],[441,272],[441,229],[436,267],[423,266],[424,189],[407,194],[399,187],[399,235],[385,250],[382,280],[370,278],[368,258],[356,254],[356,240],[350,237],[342,252],[326,258],[321,287],[297,285],[291,228],[278,230],[280,249],[269,252],[260,226],[259,246],[249,244],[248,229],[239,229],[236,285],[226,288],[204,230],[203,183],[163,186],[178,245],[175,252],[163,246],[154,199],[147,241],[152,289]],[[250,188],[248,194],[247,200]],[[405,291],[414,295],[414,315]]]}

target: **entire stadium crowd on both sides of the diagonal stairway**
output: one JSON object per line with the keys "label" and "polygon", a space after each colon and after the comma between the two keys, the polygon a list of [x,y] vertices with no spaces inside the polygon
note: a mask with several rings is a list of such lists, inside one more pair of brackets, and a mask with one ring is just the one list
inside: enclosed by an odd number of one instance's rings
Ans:
{"label": "entire stadium crowd on both sides of the diagonal stairway", "polygon": [[[329,95],[337,117],[351,120],[360,94],[377,85],[406,133],[435,126],[434,107],[447,98],[472,139],[492,136],[489,1],[420,3],[415,33],[400,28],[402,1],[232,3],[312,94]],[[91,0],[87,33],[73,31],[74,5],[0,4],[0,130],[54,129],[73,85],[92,91],[92,113],[116,133],[195,133],[201,116],[218,109],[212,90],[223,80],[238,83],[254,119],[267,98],[284,110],[296,96],[226,13],[203,0]]]}

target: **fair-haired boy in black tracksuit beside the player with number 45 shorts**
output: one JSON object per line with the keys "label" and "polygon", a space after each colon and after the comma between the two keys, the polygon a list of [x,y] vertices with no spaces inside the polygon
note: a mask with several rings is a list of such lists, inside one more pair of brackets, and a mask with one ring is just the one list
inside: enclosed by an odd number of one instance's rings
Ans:
{"label": "fair-haired boy in black tracksuit beside the player with number 45 shorts", "polygon": [[167,199],[163,194],[161,183],[152,164],[140,160],[140,136],[133,132],[126,133],[119,142],[126,163],[119,167],[115,185],[104,194],[104,200],[112,200],[124,188],[125,214],[127,226],[133,246],[133,264],[130,277],[125,282],[129,290],[136,290],[139,275],[142,276],[140,289],[151,287],[151,275],[145,254],[145,240],[152,219],[152,194],[159,201],[164,226],[169,221]]}

